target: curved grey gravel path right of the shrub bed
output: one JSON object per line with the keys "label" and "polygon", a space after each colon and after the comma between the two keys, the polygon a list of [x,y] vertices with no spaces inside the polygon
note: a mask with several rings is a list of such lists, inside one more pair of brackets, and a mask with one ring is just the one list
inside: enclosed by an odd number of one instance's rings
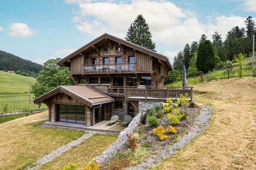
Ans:
{"label": "curved grey gravel path right of the shrub bed", "polygon": [[151,155],[151,157],[148,157],[142,164],[128,167],[127,170],[146,169],[149,166],[161,163],[162,158],[171,157],[172,154],[176,153],[196,136],[199,136],[205,131],[206,127],[209,125],[209,119],[212,116],[212,112],[212,107],[203,107],[200,114],[196,117],[194,125],[190,128],[186,135],[179,139],[177,143],[171,145],[168,149],[159,152],[158,155]]}

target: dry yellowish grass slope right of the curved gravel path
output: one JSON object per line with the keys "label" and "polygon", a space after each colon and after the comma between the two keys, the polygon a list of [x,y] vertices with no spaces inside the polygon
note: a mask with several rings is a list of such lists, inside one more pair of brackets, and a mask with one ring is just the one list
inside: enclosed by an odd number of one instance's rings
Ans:
{"label": "dry yellowish grass slope right of the curved gravel path", "polygon": [[211,126],[155,169],[256,169],[256,78],[195,85],[195,99],[215,109]]}

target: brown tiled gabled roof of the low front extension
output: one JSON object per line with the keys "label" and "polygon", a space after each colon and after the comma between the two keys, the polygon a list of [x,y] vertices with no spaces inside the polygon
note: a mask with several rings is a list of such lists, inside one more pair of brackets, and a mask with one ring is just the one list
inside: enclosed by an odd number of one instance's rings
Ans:
{"label": "brown tiled gabled roof of the low front extension", "polygon": [[75,98],[81,103],[86,104],[87,106],[93,107],[99,104],[113,102],[114,99],[110,98],[106,93],[98,90],[93,86],[59,86],[53,90],[39,96],[34,99],[34,103],[43,102],[49,99],[54,98],[54,96],[64,93],[72,98]]}

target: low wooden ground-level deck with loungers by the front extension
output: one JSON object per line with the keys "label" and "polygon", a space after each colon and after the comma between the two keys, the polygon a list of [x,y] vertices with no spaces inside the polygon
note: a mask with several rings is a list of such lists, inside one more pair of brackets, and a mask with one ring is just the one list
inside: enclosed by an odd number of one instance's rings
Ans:
{"label": "low wooden ground-level deck with loungers by the front extension", "polygon": [[108,124],[107,122],[107,120],[102,120],[94,126],[86,126],[84,124],[75,124],[67,122],[45,122],[43,123],[43,127],[66,128],[70,130],[80,130],[111,135],[119,135],[119,133],[125,129],[125,126],[121,125],[120,122],[112,125]]}

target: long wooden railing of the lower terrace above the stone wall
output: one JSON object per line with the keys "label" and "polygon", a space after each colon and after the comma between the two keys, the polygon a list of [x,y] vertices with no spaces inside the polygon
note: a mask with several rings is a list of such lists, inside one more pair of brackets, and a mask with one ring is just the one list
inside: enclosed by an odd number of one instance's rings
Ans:
{"label": "long wooden railing of the lower terrace above the stone wall", "polygon": [[108,87],[110,96],[145,97],[146,101],[147,98],[178,98],[186,93],[193,100],[193,87]]}

